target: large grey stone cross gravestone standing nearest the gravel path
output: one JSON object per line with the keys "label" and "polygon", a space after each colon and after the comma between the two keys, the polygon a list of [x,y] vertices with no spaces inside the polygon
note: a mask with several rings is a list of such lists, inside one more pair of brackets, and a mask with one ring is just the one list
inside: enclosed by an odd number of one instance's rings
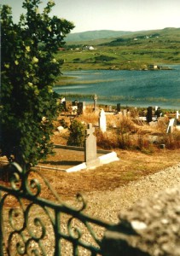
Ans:
{"label": "large grey stone cross gravestone standing nearest the gravel path", "polygon": [[100,165],[100,160],[97,158],[96,136],[93,134],[94,132],[95,128],[92,127],[92,124],[88,124],[88,129],[85,131],[86,138],[84,149],[84,161],[87,167]]}

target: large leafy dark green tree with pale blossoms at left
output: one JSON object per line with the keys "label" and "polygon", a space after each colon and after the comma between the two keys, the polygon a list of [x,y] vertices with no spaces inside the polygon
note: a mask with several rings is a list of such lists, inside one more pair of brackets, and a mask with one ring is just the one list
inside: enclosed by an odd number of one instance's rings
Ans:
{"label": "large leafy dark green tree with pale blossoms at left", "polygon": [[11,8],[1,9],[2,155],[21,165],[33,166],[52,153],[50,135],[58,105],[52,90],[60,75],[55,53],[73,24],[49,13],[49,1],[40,14],[40,0],[25,0],[26,15],[15,24]]}

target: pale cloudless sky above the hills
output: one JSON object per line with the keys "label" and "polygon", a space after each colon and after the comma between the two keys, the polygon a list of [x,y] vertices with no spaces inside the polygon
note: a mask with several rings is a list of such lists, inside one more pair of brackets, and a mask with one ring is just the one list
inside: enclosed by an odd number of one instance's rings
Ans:
{"label": "pale cloudless sky above the hills", "polygon": [[[19,20],[23,0],[0,0]],[[47,0],[42,0],[47,3]],[[141,31],[180,27],[180,0],[55,0],[52,15],[73,21],[73,32]]]}

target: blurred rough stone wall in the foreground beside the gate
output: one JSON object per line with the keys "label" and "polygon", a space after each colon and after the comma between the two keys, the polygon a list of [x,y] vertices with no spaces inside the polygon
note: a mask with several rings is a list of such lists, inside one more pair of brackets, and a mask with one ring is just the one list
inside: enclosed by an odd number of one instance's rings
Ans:
{"label": "blurred rough stone wall in the foreground beside the gate", "polygon": [[103,256],[180,255],[180,186],[137,202],[119,220],[102,239]]}

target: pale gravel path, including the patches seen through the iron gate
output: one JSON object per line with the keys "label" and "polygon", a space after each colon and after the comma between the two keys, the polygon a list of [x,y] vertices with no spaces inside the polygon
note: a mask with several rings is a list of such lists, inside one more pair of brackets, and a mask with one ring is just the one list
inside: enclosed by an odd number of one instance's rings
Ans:
{"label": "pale gravel path, including the patches seen through the iron gate", "polygon": [[[143,177],[141,180],[133,181],[128,185],[122,186],[113,191],[107,190],[102,192],[92,192],[84,195],[84,198],[88,202],[85,212],[94,218],[100,218],[101,220],[116,224],[119,222],[119,212],[125,212],[126,209],[131,207],[136,201],[140,201],[143,198],[151,197],[152,195],[177,186],[180,183],[180,163],[176,166],[171,166],[161,172],[156,172],[148,177]],[[67,201],[68,205],[75,206],[76,201]],[[38,207],[34,213],[41,212]],[[32,218],[33,219],[33,218]],[[47,236],[47,241],[45,240],[45,247],[47,250],[47,255],[54,255],[54,233],[49,226],[49,234]],[[8,226],[6,227],[8,229]],[[67,221],[61,223],[61,230],[67,229]],[[84,234],[85,230],[83,226],[81,227]],[[103,236],[103,230],[96,230],[96,235],[99,237]],[[86,237],[86,235],[84,235]],[[91,238],[87,236],[87,241],[91,244]],[[33,247],[33,245],[32,245]],[[61,248],[62,255],[70,256],[73,255],[71,245],[65,242],[64,246]],[[6,253],[3,254],[7,255]],[[79,255],[90,255],[86,251],[82,251]]]}

